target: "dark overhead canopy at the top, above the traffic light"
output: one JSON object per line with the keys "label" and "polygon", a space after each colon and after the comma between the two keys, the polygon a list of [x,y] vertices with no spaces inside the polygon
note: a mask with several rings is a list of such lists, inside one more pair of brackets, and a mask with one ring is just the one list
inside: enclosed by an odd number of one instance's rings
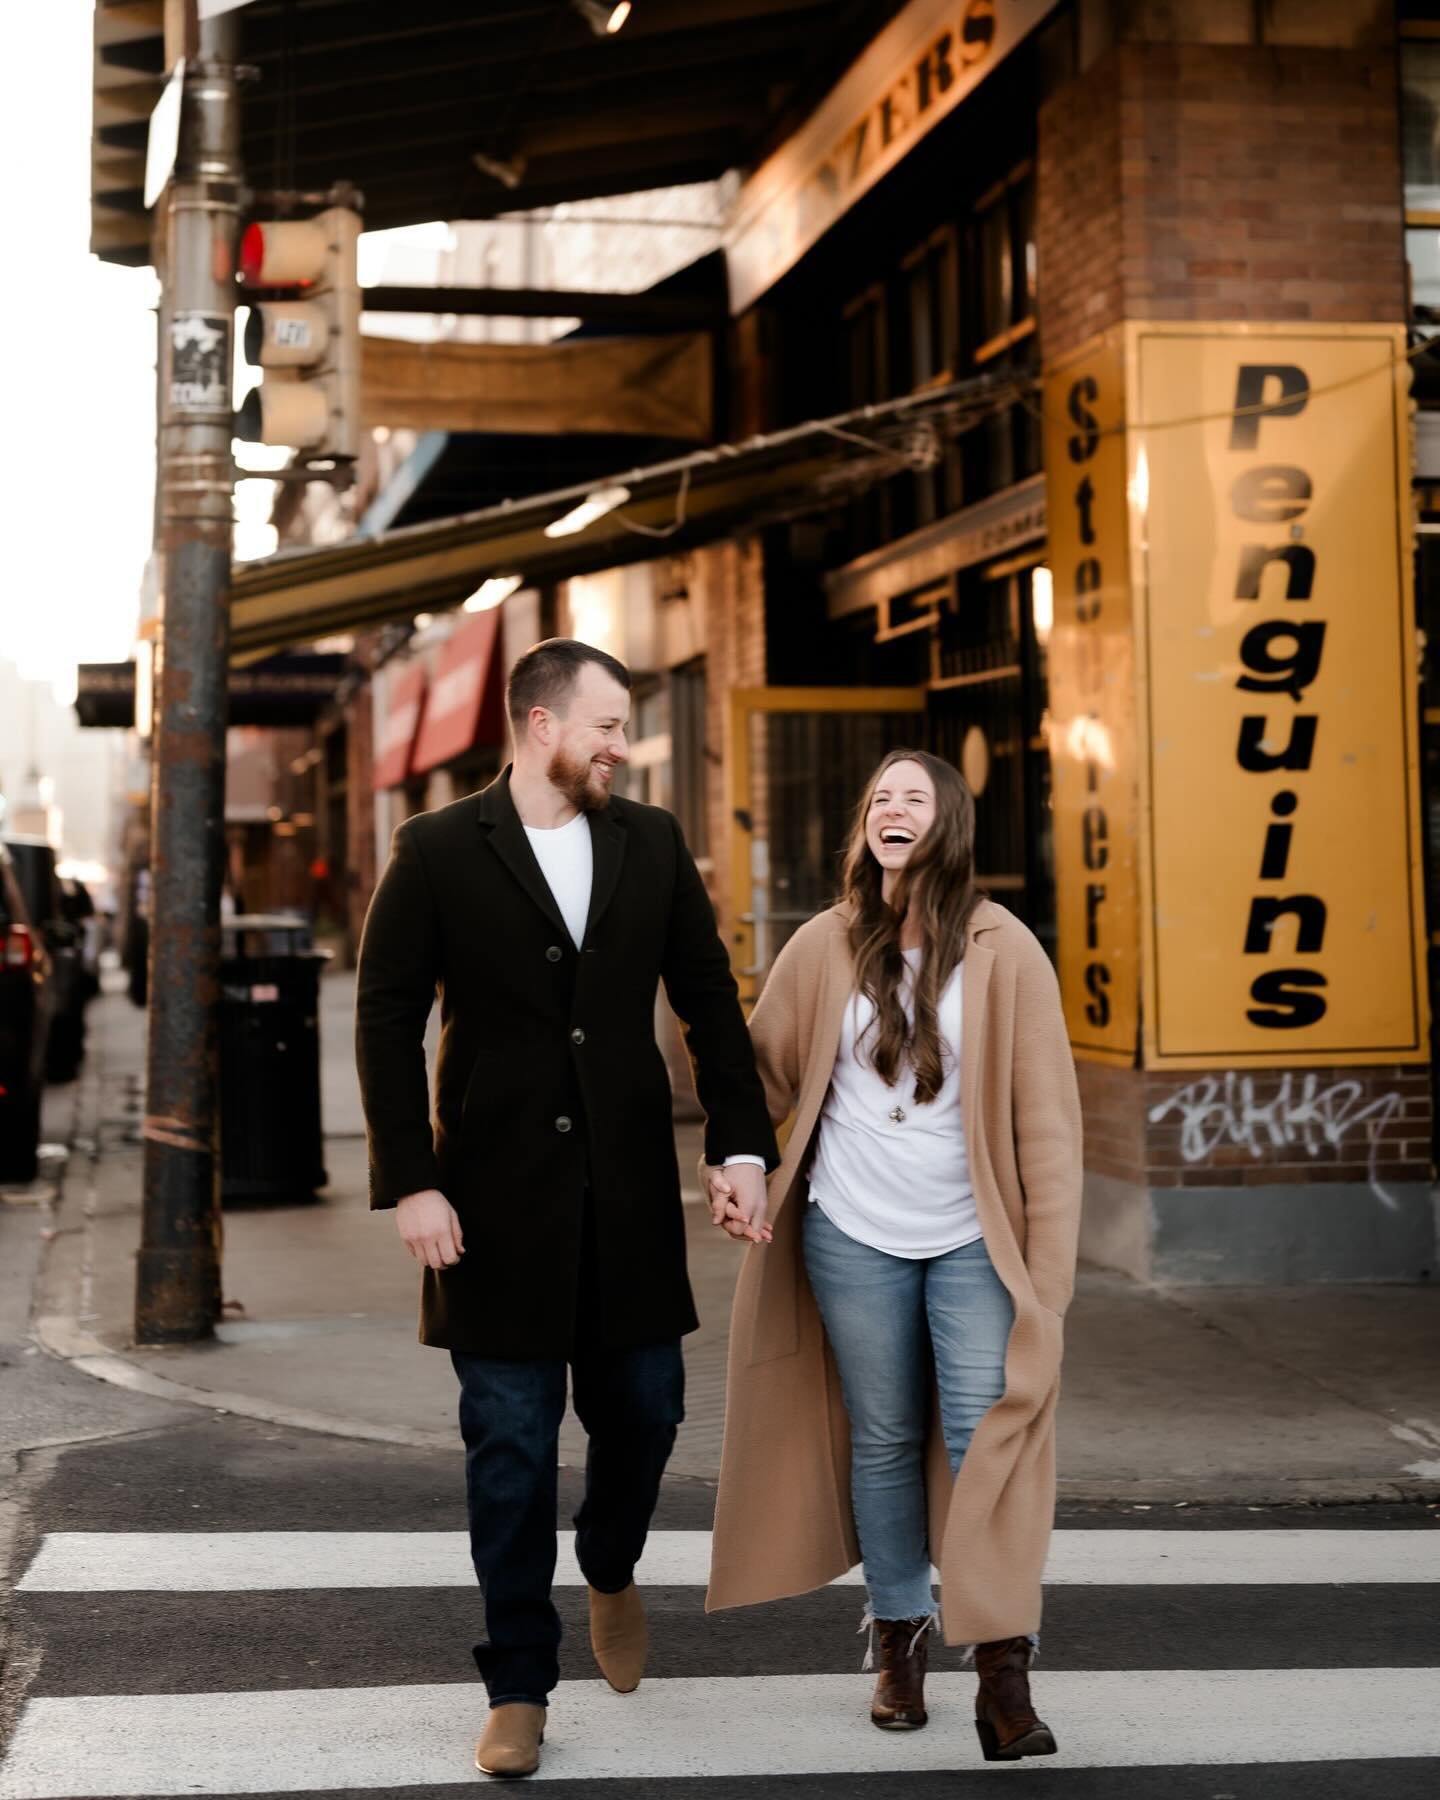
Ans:
{"label": "dark overhead canopy at the top, above the traffic light", "polygon": [[[760,160],[896,5],[643,0],[599,38],[569,0],[250,0],[245,178],[353,182],[371,229],[713,180]],[[162,22],[162,0],[95,0],[90,241],[115,263],[149,261]]]}

